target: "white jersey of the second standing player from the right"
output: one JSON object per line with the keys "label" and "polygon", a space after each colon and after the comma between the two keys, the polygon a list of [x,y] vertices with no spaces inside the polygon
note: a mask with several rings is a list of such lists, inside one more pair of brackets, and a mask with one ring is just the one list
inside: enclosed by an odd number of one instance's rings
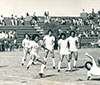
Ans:
{"label": "white jersey of the second standing player from the right", "polygon": [[59,39],[58,40],[58,45],[60,46],[60,54],[61,55],[68,55],[70,53],[67,42],[68,42],[67,39],[65,39],[65,40]]}

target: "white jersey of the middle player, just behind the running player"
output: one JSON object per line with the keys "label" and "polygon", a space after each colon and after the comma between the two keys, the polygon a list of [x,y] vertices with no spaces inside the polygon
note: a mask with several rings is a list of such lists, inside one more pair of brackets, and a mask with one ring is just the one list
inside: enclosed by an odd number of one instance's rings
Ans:
{"label": "white jersey of the middle player, just behind the running player", "polygon": [[47,49],[49,49],[50,51],[52,51],[54,49],[55,37],[46,35],[46,36],[44,36],[43,40],[44,40],[44,43],[45,43],[45,47]]}

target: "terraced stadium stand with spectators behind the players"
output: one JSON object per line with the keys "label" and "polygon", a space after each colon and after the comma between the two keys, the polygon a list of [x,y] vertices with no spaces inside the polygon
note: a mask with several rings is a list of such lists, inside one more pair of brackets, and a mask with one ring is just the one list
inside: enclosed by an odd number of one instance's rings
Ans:
{"label": "terraced stadium stand with spectators behind the players", "polygon": [[[29,17],[29,18],[28,18]],[[67,33],[71,30],[75,30],[77,32],[77,35],[81,35],[81,46],[83,47],[90,47],[91,42],[96,42],[98,39],[98,36],[92,36],[91,33],[95,33],[98,31],[99,35],[99,27],[96,29],[92,29],[92,25],[98,26],[98,18],[93,19],[82,19],[81,17],[50,17],[50,22],[45,23],[45,17],[38,17],[36,25],[32,26],[30,23],[30,20],[32,19],[32,16],[28,16],[27,18],[24,18],[25,25],[21,24],[21,18],[17,18],[18,25],[12,25],[11,24],[11,17],[4,17],[5,26],[0,26],[0,32],[3,30],[6,32],[9,32],[9,30],[16,30],[17,33],[17,43],[21,44],[24,34],[29,33],[32,34],[39,34],[41,36],[44,36],[48,29],[53,30],[55,37],[57,38],[57,30],[59,28],[62,29],[63,32]],[[33,18],[34,19],[34,18]],[[71,26],[73,28],[71,28]],[[96,27],[97,27],[96,26]],[[87,33],[87,36],[83,37],[83,33]]]}

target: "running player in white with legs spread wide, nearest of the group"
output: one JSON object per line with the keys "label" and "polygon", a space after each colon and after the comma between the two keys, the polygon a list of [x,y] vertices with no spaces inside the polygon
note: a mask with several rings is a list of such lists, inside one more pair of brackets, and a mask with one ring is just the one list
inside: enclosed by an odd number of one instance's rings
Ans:
{"label": "running player in white with legs spread wide, nearest of the group", "polygon": [[31,41],[31,44],[30,44],[30,48],[31,48],[30,56],[31,56],[31,59],[29,60],[29,62],[27,64],[27,69],[29,69],[29,67],[32,65],[32,63],[34,63],[34,61],[38,61],[38,62],[42,63],[41,71],[39,73],[40,77],[42,77],[46,62],[41,60],[42,57],[40,57],[38,55],[40,47],[41,47],[41,44],[39,44],[39,36],[38,35],[33,35],[32,36],[32,41]]}

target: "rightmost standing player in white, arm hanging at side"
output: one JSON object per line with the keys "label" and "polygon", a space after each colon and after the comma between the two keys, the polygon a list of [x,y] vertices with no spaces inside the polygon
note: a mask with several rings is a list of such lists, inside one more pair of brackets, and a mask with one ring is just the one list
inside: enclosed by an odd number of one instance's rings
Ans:
{"label": "rightmost standing player in white, arm hanging at side", "polygon": [[[72,56],[74,56],[74,65],[73,67],[76,68],[76,62],[78,60],[78,38],[75,35],[75,31],[70,32],[70,37],[68,37],[69,42],[69,48],[71,52],[70,60],[72,59]],[[69,60],[69,62],[70,62]]]}

